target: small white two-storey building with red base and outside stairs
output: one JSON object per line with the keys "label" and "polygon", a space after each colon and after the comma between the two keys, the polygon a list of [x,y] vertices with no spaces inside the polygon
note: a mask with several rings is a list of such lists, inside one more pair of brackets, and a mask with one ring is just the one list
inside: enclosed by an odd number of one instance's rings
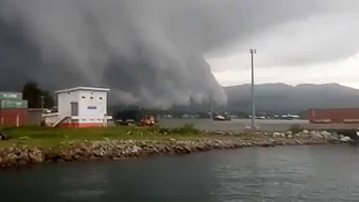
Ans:
{"label": "small white two-storey building with red base and outside stairs", "polygon": [[55,91],[58,112],[43,114],[51,127],[106,127],[108,88],[76,87]]}

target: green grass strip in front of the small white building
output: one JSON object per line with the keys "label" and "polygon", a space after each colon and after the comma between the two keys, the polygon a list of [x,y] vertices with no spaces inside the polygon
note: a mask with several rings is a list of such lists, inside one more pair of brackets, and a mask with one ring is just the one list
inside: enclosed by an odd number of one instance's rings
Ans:
{"label": "green grass strip in front of the small white building", "polygon": [[[0,132],[10,136],[9,140],[0,141],[0,147],[13,144],[27,144],[42,148],[55,147],[74,140],[104,140],[104,139],[142,139],[160,140],[168,138],[189,139],[208,138],[204,134],[186,124],[180,128],[113,126],[108,128],[47,128],[47,127],[20,127],[3,128]],[[213,136],[211,136],[213,137]]]}

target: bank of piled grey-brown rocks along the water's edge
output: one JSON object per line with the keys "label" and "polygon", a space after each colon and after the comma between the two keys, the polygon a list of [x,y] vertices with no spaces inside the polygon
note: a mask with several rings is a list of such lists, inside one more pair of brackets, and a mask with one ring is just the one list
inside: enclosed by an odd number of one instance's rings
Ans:
{"label": "bank of piled grey-brown rocks along the water's edge", "polygon": [[246,147],[274,147],[348,142],[350,138],[326,131],[293,134],[257,132],[255,134],[222,133],[200,139],[111,140],[63,142],[58,148],[39,148],[25,144],[0,148],[0,167],[14,167],[42,162],[122,160],[161,154],[188,154],[209,150]]}

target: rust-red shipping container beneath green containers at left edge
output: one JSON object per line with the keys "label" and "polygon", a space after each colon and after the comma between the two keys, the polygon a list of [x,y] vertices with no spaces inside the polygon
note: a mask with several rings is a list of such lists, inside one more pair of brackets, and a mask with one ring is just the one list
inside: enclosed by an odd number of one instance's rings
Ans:
{"label": "rust-red shipping container beneath green containers at left edge", "polygon": [[0,109],[0,125],[22,126],[27,123],[27,109]]}

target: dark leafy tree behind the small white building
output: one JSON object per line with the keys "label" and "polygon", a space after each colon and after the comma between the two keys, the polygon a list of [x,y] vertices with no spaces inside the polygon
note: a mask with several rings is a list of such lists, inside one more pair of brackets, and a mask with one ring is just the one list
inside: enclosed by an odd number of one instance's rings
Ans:
{"label": "dark leafy tree behind the small white building", "polygon": [[48,91],[42,90],[36,82],[25,83],[23,87],[23,99],[28,101],[29,108],[40,108],[41,96],[43,96],[45,108],[53,107],[55,102]]}

